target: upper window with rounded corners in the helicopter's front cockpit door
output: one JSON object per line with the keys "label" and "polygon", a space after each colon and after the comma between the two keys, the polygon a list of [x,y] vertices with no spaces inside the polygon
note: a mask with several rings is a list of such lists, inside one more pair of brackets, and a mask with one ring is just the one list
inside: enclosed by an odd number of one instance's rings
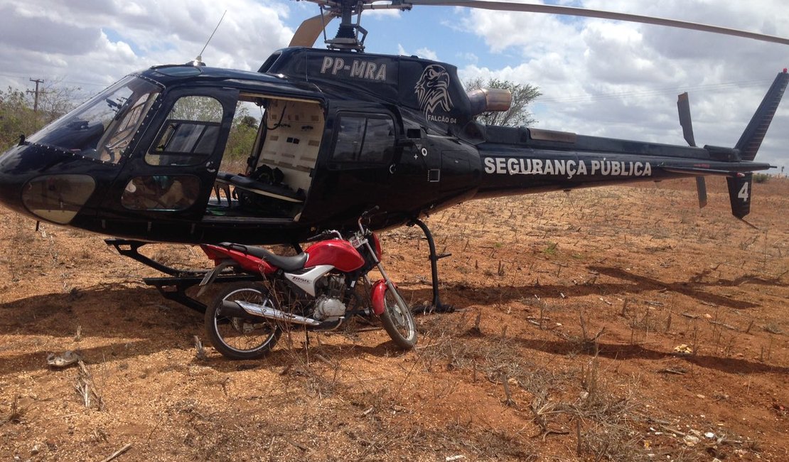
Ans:
{"label": "upper window with rounded corners in the helicopter's front cockpit door", "polygon": [[204,162],[219,140],[222,103],[210,96],[175,102],[145,162],[153,166],[193,166]]}

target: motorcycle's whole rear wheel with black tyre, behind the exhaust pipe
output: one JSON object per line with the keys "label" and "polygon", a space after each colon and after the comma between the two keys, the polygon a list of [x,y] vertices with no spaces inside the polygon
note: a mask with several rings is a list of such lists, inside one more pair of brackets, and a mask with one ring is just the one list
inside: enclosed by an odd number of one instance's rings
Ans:
{"label": "motorcycle's whole rear wheel with black tyre, behind the exhaust pipe", "polygon": [[274,348],[282,327],[275,321],[252,315],[239,315],[227,309],[223,302],[245,301],[260,305],[275,305],[268,289],[249,282],[230,285],[215,297],[205,311],[205,330],[216,351],[230,360],[256,360]]}

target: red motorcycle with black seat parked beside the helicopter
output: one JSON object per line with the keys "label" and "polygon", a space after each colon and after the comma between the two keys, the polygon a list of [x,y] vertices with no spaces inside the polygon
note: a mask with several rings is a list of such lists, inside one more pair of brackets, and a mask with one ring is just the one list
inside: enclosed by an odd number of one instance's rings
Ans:
{"label": "red motorcycle with black seat parked beside the helicopter", "polygon": [[[383,270],[380,240],[364,225],[372,211],[362,214],[358,231],[347,238],[325,231],[310,238],[319,242],[296,256],[241,244],[202,245],[215,267],[201,286],[210,285],[227,267],[261,277],[230,285],[216,296],[205,312],[211,345],[232,360],[251,360],[271,352],[287,326],[336,330],[354,317],[369,321],[375,316],[395,344],[413,348],[413,315]],[[368,278],[373,267],[383,277],[375,283]]]}

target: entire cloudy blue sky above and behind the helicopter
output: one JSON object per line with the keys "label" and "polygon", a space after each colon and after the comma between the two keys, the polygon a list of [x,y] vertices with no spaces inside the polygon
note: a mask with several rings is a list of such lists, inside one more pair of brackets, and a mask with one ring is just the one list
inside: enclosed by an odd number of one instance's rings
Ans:
{"label": "entire cloudy blue sky above and behind the helicopter", "polygon": [[[536,2],[536,1],[535,1]],[[667,17],[789,36],[785,0],[580,0],[552,2]],[[87,98],[126,73],[183,63],[200,53],[227,11],[203,60],[256,70],[286,47],[309,2],[286,0],[4,0],[0,4],[0,89],[80,88]],[[328,28],[330,36],[337,21]],[[593,136],[685,144],[679,93],[690,93],[699,145],[733,147],[789,46],[646,24],[417,6],[368,12],[367,51],[417,54],[483,77],[533,84],[536,127]],[[319,40],[316,47],[323,47]],[[789,173],[789,96],[757,161]]]}

